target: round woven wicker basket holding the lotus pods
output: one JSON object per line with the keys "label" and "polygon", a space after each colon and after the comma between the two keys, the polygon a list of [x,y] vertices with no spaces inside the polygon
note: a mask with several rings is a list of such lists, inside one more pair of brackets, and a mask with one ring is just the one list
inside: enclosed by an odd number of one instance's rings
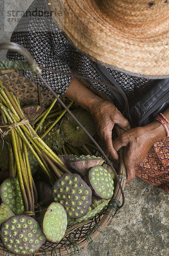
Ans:
{"label": "round woven wicker basket holding the lotus pods", "polygon": [[[20,71],[3,70],[0,79],[9,91],[19,97],[22,105],[39,104],[47,107],[54,100],[54,96],[50,92],[41,89],[37,84],[23,77]],[[118,134],[122,132],[118,128]],[[122,151],[120,151],[120,170],[118,176],[124,190],[126,169]],[[121,200],[121,190],[119,189],[118,183],[113,199],[109,202],[107,209],[104,209],[93,219],[68,227],[64,238],[59,243],[46,242],[35,255],[68,256],[85,250],[87,245],[99,236],[115,215],[118,209],[115,200]],[[13,253],[7,252],[4,249],[3,243],[0,241],[0,255],[6,254],[14,255]]]}

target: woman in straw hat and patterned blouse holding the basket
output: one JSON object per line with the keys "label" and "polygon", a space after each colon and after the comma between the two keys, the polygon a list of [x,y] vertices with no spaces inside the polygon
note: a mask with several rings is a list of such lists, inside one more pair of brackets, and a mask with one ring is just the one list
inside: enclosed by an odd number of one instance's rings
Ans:
{"label": "woman in straw hat and patterned blouse holding the basket", "polygon": [[[65,2],[65,6],[62,2]],[[33,15],[35,10],[36,15]],[[147,0],[72,0],[71,3],[68,0],[52,0],[50,3],[34,0],[15,28],[11,41],[27,48],[40,66],[69,73],[72,69],[83,76],[97,79],[98,82],[91,81],[93,87],[112,100],[113,94],[101,84],[101,77],[96,71],[95,61],[100,61],[131,100],[151,87],[152,80],[144,77],[169,77],[168,23],[169,3],[164,0],[151,3]],[[23,59],[23,56],[8,52],[7,58],[17,60]],[[31,79],[30,72],[24,72],[24,75]],[[57,93],[78,102],[91,113],[112,159],[118,160],[117,152],[125,146],[127,183],[133,180],[136,167],[143,160],[146,161],[145,157],[149,159],[147,153],[154,150],[152,146],[156,143],[157,147],[158,141],[166,137],[169,124],[166,123],[164,128],[162,121],[154,120],[144,127],[131,129],[129,121],[113,102],[96,96],[76,78],[44,70],[42,75]],[[44,87],[38,77],[32,80]],[[169,119],[169,109],[163,115]],[[114,124],[125,132],[113,141]],[[165,138],[163,145],[169,148],[167,143],[168,139]],[[144,180],[169,191],[169,163],[166,155],[164,158],[165,174],[149,172],[145,175],[144,163],[137,167],[137,173]]]}

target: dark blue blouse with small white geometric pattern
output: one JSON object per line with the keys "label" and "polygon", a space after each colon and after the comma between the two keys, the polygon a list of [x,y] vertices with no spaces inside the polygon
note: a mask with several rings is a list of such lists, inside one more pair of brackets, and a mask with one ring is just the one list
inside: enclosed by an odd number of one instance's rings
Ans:
{"label": "dark blue blouse with small white geometric pattern", "polygon": [[[59,31],[57,24],[50,15],[38,16],[38,13],[36,16],[33,15],[37,10],[41,14],[45,13],[47,10],[45,0],[33,1],[14,29],[11,41],[28,49],[40,66],[68,73],[74,70],[82,76],[98,80],[98,82],[90,82],[93,87],[106,93],[112,99],[113,95],[107,86],[99,82],[101,78],[96,71],[95,62],[82,55],[69,43],[62,32]],[[24,59],[20,53],[11,51],[8,51],[6,57],[9,60]],[[136,93],[141,95],[152,83],[150,79],[130,76],[108,68],[107,70],[124,90],[128,99],[133,99]],[[25,71],[23,74],[28,79],[37,82],[41,87],[45,88],[38,76],[32,79],[31,72]],[[66,92],[72,79],[70,75],[60,75],[44,70],[42,71],[42,76],[59,95],[63,95]]]}

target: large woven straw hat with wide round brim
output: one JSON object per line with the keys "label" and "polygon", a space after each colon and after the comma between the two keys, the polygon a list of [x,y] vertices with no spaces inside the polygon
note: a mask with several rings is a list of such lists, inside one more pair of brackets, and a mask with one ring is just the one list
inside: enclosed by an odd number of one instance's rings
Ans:
{"label": "large woven straw hat with wide round brim", "polygon": [[48,4],[60,29],[84,55],[132,75],[169,78],[169,0]]}

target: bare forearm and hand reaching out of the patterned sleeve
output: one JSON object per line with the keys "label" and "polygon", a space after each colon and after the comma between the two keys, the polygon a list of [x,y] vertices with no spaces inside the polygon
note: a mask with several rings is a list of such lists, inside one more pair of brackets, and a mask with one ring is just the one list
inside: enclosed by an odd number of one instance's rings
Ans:
{"label": "bare forearm and hand reaching out of the patterned sleeve", "polygon": [[111,158],[117,160],[118,153],[113,148],[112,129],[114,124],[118,124],[124,130],[129,129],[128,120],[122,116],[113,103],[95,95],[75,77],[73,77],[65,96],[79,103],[91,113],[107,153]]}

